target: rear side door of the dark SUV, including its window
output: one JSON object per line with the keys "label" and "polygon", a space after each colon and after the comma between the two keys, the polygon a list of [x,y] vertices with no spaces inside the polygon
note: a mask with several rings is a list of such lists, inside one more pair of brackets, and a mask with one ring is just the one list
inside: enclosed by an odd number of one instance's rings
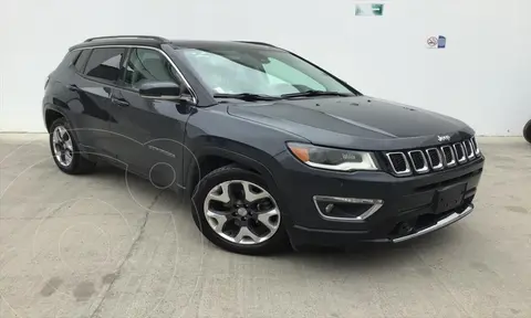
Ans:
{"label": "rear side door of the dark SUV, including its window", "polygon": [[100,47],[84,50],[76,61],[76,75],[70,89],[76,98],[69,107],[79,107],[76,125],[83,147],[93,153],[115,158],[110,124],[116,121],[112,94],[119,80],[121,62],[125,47]]}

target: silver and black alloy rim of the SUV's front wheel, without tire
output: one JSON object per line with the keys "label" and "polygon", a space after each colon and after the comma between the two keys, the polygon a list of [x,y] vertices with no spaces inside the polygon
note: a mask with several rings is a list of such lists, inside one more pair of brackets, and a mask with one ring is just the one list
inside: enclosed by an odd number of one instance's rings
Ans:
{"label": "silver and black alloy rim of the SUV's front wheel, without tire", "polygon": [[219,236],[236,244],[263,243],[280,227],[280,211],[273,197],[243,180],[214,187],[205,199],[204,213]]}

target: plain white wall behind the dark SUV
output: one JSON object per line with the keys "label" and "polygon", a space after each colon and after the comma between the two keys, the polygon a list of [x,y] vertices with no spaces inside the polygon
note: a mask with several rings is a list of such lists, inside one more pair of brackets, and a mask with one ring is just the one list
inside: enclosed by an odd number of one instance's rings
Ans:
{"label": "plain white wall behind the dark SUV", "polygon": [[[531,1],[2,0],[0,130],[43,131],[46,75],[90,36],[256,40],[300,53],[368,95],[455,116],[481,135],[531,119]],[[428,50],[428,35],[448,47]]]}

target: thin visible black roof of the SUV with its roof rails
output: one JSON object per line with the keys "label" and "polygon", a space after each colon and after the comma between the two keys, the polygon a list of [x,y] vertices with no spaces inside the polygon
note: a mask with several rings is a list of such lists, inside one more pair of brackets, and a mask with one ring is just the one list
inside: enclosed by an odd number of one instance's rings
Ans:
{"label": "thin visible black roof of the SUV with its roof rails", "polygon": [[160,36],[152,35],[113,35],[98,36],[85,40],[85,42],[70,47],[70,51],[83,47],[91,47],[95,45],[143,45],[160,47],[162,44],[169,44],[174,49],[191,47],[191,49],[229,49],[233,46],[269,46],[274,45],[254,42],[254,41],[206,41],[206,40],[167,40]]}

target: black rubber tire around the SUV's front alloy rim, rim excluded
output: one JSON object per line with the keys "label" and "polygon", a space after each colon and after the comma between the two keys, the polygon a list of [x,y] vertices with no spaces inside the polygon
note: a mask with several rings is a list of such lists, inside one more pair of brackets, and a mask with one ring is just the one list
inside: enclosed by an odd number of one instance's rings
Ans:
{"label": "black rubber tire around the SUV's front alloy rim, rim excluded", "polygon": [[[208,192],[219,183],[222,183],[225,181],[229,180],[244,180],[244,181],[250,181],[252,183],[256,183],[263,189],[266,189],[271,195],[273,195],[273,199],[277,203],[277,206],[280,211],[280,226],[279,230],[277,230],[277,233],[273,234],[268,241],[259,244],[253,244],[253,245],[241,245],[241,244],[236,244],[232,242],[229,242],[221,236],[219,236],[208,224],[207,219],[205,216],[205,211],[204,211],[204,203],[207,198]],[[210,173],[208,173],[204,179],[199,181],[199,184],[197,184],[192,198],[191,198],[191,213],[194,216],[194,221],[196,225],[199,227],[201,233],[214,244],[235,252],[235,253],[241,253],[241,254],[270,254],[274,252],[280,252],[283,247],[285,247],[287,243],[289,242],[288,236],[284,231],[284,215],[283,214],[283,206],[281,206],[279,200],[274,198],[275,191],[271,191],[271,189],[268,189],[268,186],[263,181],[263,179],[244,169],[237,168],[237,167],[223,167],[220,169],[217,169]]]}

